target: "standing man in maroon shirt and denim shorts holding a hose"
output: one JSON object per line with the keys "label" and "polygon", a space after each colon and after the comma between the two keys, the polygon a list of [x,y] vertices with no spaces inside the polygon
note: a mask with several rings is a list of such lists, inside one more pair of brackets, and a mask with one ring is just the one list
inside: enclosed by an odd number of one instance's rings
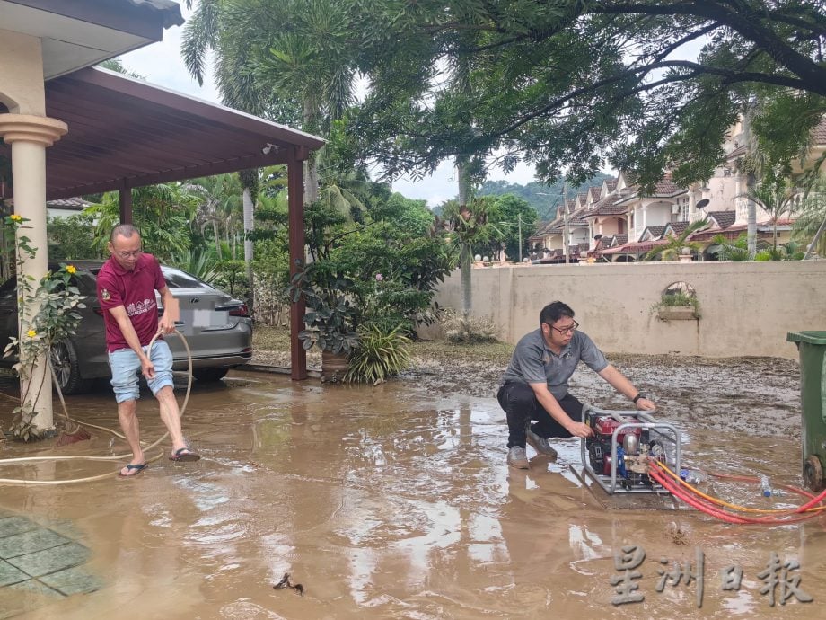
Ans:
{"label": "standing man in maroon shirt and denim shorts holding a hose", "polygon": [[[132,461],[120,470],[120,475],[140,474],[146,467],[136,414],[140,395],[138,369],[160,403],[161,420],[172,439],[170,460],[197,461],[200,456],[187,447],[180,430],[180,410],[172,392],[169,345],[159,337],[152,350],[146,350],[156,333],[175,330],[177,302],[166,286],[157,259],[141,252],[141,238],[134,226],[115,226],[107,247],[111,256],[98,274],[98,301],[104,310],[111,384],[118,402],[120,426],[132,448]],[[160,325],[155,290],[163,299]]]}

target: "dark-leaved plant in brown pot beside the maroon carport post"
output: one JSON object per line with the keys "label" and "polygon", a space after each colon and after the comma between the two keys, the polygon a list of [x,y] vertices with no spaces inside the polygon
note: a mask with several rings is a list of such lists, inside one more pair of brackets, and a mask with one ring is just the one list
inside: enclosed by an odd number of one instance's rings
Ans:
{"label": "dark-leaved plant in brown pot beside the maroon carport post", "polygon": [[331,279],[326,286],[311,281],[310,269],[296,273],[288,293],[297,302],[302,296],[307,305],[305,329],[298,333],[304,350],[321,350],[321,379],[338,381],[347,372],[347,359],[358,347],[354,329],[356,306],[347,297],[347,279]]}

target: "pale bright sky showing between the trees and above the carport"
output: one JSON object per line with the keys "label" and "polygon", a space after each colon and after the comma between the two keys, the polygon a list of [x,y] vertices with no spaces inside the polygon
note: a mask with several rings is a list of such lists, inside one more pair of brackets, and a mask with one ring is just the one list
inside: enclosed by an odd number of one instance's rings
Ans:
{"label": "pale bright sky showing between the trees and above the carport", "polygon": [[[180,6],[184,18],[189,17],[191,11],[182,3]],[[215,88],[211,75],[203,86],[198,86],[189,76],[183,59],[180,57],[180,40],[183,27],[175,26],[164,31],[163,41],[154,43],[142,49],[129,52],[120,57],[123,65],[129,71],[143,75],[147,82],[170,88],[209,102],[221,102],[221,97]],[[512,183],[527,184],[534,181],[532,166],[519,164],[513,173],[505,175],[500,170],[491,170],[489,177],[493,181],[505,180]],[[431,176],[417,182],[400,179],[392,183],[394,191],[412,199],[427,201],[428,207],[435,207],[445,200],[453,199],[458,193],[453,165],[443,162]]]}

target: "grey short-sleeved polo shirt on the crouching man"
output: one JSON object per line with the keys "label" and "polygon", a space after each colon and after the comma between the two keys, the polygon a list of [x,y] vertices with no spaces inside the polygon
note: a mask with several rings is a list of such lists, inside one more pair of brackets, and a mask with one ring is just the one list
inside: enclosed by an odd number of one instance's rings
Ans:
{"label": "grey short-sleeved polo shirt on the crouching man", "polygon": [[583,332],[574,332],[567,347],[557,355],[548,348],[542,338],[542,330],[537,329],[526,333],[516,344],[502,383],[514,381],[529,384],[545,381],[554,398],[560,399],[567,394],[568,379],[574,374],[580,360],[593,372],[601,372],[608,366],[608,360],[602,355],[602,351]]}

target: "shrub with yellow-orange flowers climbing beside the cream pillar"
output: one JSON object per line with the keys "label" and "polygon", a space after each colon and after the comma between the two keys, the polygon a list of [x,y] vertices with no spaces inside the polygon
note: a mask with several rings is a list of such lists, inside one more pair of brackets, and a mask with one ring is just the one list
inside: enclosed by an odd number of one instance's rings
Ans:
{"label": "shrub with yellow-orange flowers climbing beside the cream pillar", "polygon": [[31,378],[41,359],[47,359],[54,342],[65,340],[75,333],[81,321],[77,309],[83,308],[83,296],[72,283],[73,265],[61,264],[55,273],[48,271],[36,284],[31,276],[21,276],[24,260],[33,260],[37,248],[31,246],[31,239],[22,234],[28,220],[18,215],[5,217],[4,234],[7,243],[13,244],[16,235],[17,301],[20,316],[21,338],[12,337],[5,346],[4,355],[12,355],[16,350],[18,362],[13,369],[23,380],[24,390],[20,395],[20,406],[13,410],[13,437],[29,441],[40,437],[40,431],[32,423],[36,416],[36,406],[43,391],[43,380],[35,385]]}

